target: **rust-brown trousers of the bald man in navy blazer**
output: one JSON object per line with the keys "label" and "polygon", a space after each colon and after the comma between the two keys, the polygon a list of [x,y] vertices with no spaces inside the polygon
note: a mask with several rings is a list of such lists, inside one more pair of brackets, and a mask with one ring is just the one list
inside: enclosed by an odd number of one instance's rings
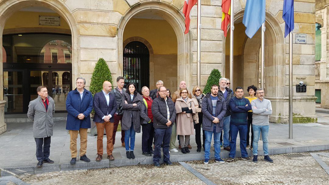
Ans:
{"label": "rust-brown trousers of the bald man in navy blazer", "polygon": [[106,132],[106,138],[107,138],[107,155],[112,155],[113,151],[113,126],[114,124],[111,122],[104,122],[104,123],[98,123],[96,122],[96,128],[97,128],[97,154],[103,156],[103,136],[104,136],[104,129]]}

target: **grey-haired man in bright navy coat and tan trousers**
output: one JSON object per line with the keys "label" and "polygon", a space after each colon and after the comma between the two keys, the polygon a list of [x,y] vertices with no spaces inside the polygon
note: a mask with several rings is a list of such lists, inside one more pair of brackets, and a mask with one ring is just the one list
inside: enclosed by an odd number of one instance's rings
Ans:
{"label": "grey-haired man in bright navy coat and tan trousers", "polygon": [[84,87],[86,80],[83,77],[77,78],[77,88],[70,91],[66,97],[66,130],[70,133],[71,161],[74,165],[77,160],[77,138],[80,134],[80,160],[90,162],[86,156],[87,151],[87,130],[90,128],[90,113],[92,111],[92,94]]}

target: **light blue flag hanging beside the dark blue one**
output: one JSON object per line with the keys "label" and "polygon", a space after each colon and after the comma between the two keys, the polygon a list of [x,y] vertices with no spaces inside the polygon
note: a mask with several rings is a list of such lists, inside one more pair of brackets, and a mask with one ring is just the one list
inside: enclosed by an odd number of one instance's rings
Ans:
{"label": "light blue flag hanging beside the dark blue one", "polygon": [[265,0],[247,0],[242,23],[251,39],[265,22]]}

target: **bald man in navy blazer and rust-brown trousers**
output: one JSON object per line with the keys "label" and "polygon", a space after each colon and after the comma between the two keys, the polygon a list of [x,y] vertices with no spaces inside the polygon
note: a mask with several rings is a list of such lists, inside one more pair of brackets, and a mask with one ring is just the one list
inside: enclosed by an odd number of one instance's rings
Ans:
{"label": "bald man in navy blazer and rust-brown trousers", "polygon": [[94,121],[97,128],[97,157],[96,161],[103,159],[103,136],[104,128],[107,138],[107,158],[114,160],[113,151],[113,127],[114,114],[116,111],[115,95],[110,93],[112,91],[112,84],[109,81],[103,83],[103,90],[94,95]]}

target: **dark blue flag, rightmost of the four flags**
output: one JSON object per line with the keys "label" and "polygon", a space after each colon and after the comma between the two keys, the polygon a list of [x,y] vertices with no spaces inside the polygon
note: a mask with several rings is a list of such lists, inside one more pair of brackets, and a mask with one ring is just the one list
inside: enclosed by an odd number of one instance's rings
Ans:
{"label": "dark blue flag, rightmost of the four flags", "polygon": [[282,18],[286,22],[285,37],[294,29],[293,0],[284,0]]}

